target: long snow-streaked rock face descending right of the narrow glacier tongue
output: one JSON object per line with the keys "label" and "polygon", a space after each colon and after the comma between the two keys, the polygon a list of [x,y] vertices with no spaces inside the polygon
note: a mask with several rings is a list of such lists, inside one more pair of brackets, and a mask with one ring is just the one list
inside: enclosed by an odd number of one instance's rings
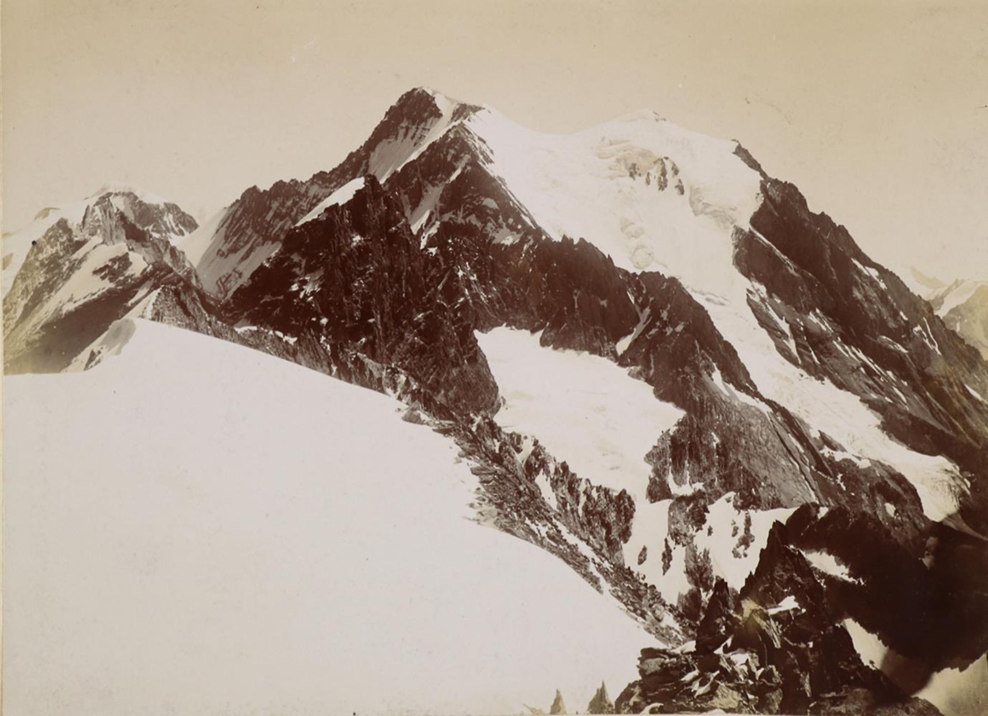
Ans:
{"label": "long snow-streaked rock face descending right of the narrow glacier tongue", "polygon": [[794,187],[768,177],[763,187],[735,261],[766,287],[753,311],[768,332],[782,331],[778,342],[794,344],[782,354],[858,395],[894,438],[981,472],[988,411],[970,388],[983,384],[984,361]]}

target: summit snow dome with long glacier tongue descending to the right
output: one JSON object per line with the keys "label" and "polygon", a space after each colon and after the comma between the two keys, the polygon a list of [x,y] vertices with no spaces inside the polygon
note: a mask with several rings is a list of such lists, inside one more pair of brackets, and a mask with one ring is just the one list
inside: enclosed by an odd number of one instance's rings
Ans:
{"label": "summit snow dome with long glacier tongue descending to the right", "polygon": [[[751,228],[761,178],[734,154],[736,142],[651,112],[571,134],[535,132],[488,108],[465,123],[489,148],[489,171],[550,236],[582,237],[619,267],[679,278],[762,393],[855,454],[901,472],[928,517],[956,512],[964,487],[952,462],[889,438],[861,399],[794,366],[759,325],[748,299],[765,288],[734,266],[733,233]],[[659,191],[663,176],[667,186]]]}

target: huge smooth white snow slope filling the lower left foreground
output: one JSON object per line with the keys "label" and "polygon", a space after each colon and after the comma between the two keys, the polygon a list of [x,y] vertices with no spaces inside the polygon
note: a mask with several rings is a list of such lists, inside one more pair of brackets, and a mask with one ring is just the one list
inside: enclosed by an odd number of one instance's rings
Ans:
{"label": "huge smooth white snow slope filling the lower left foreground", "polygon": [[517,713],[635,676],[652,639],[471,521],[395,401],[133,323],[5,380],[5,713]]}

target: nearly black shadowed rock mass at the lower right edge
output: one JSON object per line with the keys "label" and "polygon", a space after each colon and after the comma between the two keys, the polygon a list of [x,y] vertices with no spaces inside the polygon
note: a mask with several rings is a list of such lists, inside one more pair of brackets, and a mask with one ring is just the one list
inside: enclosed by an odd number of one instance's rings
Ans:
{"label": "nearly black shadowed rock mass at the lower right edge", "polygon": [[[909,660],[911,682],[899,679],[900,685],[918,690],[926,677],[964,668],[988,651],[988,543],[947,524],[910,525],[908,513],[886,504],[891,507],[874,514],[806,506],[782,534],[831,565],[815,574],[832,611]],[[894,536],[878,517],[889,513],[899,518]],[[906,676],[905,669],[896,671]]]}

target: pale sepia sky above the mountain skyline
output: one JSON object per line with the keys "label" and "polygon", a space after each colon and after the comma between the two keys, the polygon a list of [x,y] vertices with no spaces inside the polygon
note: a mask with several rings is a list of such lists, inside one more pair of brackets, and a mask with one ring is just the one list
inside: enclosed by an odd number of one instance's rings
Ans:
{"label": "pale sepia sky above the mountain skyline", "polygon": [[988,2],[3,0],[4,230],[110,180],[198,218],[428,85],[740,140],[881,263],[988,278]]}

